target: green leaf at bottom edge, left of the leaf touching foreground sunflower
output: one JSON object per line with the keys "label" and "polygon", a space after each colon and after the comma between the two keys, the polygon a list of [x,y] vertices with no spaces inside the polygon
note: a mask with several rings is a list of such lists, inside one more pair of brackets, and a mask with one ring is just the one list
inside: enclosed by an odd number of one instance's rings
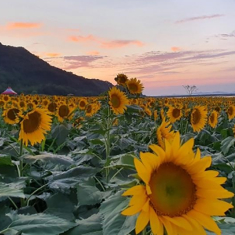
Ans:
{"label": "green leaf at bottom edge, left of the leaf touching foreground sunflower", "polygon": [[94,214],[87,219],[76,220],[77,227],[67,231],[64,235],[103,235],[102,219]]}

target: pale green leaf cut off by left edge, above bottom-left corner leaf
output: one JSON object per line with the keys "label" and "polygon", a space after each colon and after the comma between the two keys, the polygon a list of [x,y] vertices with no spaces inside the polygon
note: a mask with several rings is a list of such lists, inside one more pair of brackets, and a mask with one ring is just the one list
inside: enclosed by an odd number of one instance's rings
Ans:
{"label": "pale green leaf cut off by left edge, above bottom-left corner leaf", "polygon": [[16,183],[3,183],[0,182],[0,200],[2,197],[20,197],[25,198],[23,188],[25,187],[25,183],[23,181],[19,181]]}

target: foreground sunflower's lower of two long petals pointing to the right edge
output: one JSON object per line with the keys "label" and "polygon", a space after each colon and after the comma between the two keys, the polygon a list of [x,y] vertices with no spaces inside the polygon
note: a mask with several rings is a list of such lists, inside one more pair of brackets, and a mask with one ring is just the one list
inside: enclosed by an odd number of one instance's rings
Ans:
{"label": "foreground sunflower's lower of two long petals pointing to the right edge", "polygon": [[199,198],[194,205],[194,209],[207,215],[224,215],[224,213],[233,206],[221,200],[211,200]]}

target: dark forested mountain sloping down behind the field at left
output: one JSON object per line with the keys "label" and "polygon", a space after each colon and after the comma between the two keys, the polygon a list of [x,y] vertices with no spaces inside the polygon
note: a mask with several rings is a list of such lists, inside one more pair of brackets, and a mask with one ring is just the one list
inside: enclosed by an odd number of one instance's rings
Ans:
{"label": "dark forested mountain sloping down behind the field at left", "polygon": [[113,85],[51,66],[23,47],[0,43],[0,93],[8,86],[18,94],[96,96]]}

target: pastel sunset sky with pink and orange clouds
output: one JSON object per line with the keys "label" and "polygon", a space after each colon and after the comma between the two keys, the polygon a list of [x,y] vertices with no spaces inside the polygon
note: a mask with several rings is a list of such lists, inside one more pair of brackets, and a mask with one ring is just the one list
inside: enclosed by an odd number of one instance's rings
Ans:
{"label": "pastel sunset sky with pink and orange clouds", "polygon": [[[0,42],[143,94],[235,92],[235,0],[0,0]],[[0,55],[1,56],[1,55]]]}

